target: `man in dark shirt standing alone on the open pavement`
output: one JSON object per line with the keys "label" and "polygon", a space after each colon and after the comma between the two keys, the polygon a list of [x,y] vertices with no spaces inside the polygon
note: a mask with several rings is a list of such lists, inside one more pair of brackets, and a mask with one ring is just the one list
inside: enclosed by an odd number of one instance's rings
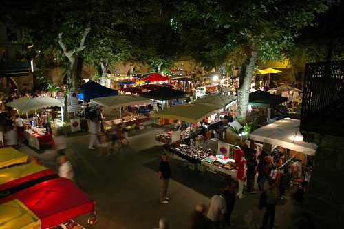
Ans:
{"label": "man in dark shirt standing alone on the open pavement", "polygon": [[159,164],[159,176],[161,179],[160,203],[169,203],[169,197],[166,197],[167,188],[169,187],[169,179],[172,177],[169,165],[169,156],[164,152],[161,156]]}

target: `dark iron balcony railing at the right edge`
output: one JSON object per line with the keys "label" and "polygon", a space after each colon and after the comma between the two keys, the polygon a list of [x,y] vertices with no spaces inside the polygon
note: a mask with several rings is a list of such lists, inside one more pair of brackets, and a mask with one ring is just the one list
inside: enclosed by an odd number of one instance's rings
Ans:
{"label": "dark iron balcony railing at the right edge", "polygon": [[306,64],[301,134],[344,137],[343,103],[344,61]]}

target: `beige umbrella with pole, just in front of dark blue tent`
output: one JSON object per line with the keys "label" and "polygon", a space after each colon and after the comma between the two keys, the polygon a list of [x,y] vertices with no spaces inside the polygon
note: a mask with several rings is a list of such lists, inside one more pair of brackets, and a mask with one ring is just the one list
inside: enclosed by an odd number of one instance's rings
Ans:
{"label": "beige umbrella with pole, just in front of dark blue tent", "polygon": [[[151,100],[149,99],[132,94],[120,94],[110,97],[101,97],[91,99],[91,101],[111,109],[122,108],[123,106],[142,105],[144,103],[151,103]],[[122,111],[120,111],[120,117],[122,117]]]}

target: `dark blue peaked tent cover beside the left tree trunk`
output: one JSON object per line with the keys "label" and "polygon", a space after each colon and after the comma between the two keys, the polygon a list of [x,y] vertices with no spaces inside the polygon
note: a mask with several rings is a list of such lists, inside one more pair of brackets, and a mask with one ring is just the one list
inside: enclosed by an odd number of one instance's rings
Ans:
{"label": "dark blue peaked tent cover beside the left tree trunk", "polygon": [[100,97],[108,97],[111,95],[118,95],[118,90],[107,88],[92,80],[83,84],[78,88],[78,97],[82,100],[89,100]]}

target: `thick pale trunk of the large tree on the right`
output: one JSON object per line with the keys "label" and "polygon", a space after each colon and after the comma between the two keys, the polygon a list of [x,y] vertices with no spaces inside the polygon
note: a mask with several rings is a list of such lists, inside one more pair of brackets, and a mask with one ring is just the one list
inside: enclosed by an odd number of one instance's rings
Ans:
{"label": "thick pale trunk of the large tree on the right", "polygon": [[[257,51],[251,50],[250,57],[241,66],[240,86],[237,94],[237,118],[241,124],[248,123],[250,117],[248,115],[248,99],[250,95],[250,85],[252,82],[253,71],[255,70],[255,63],[257,62]],[[241,75],[244,74],[243,77]]]}

